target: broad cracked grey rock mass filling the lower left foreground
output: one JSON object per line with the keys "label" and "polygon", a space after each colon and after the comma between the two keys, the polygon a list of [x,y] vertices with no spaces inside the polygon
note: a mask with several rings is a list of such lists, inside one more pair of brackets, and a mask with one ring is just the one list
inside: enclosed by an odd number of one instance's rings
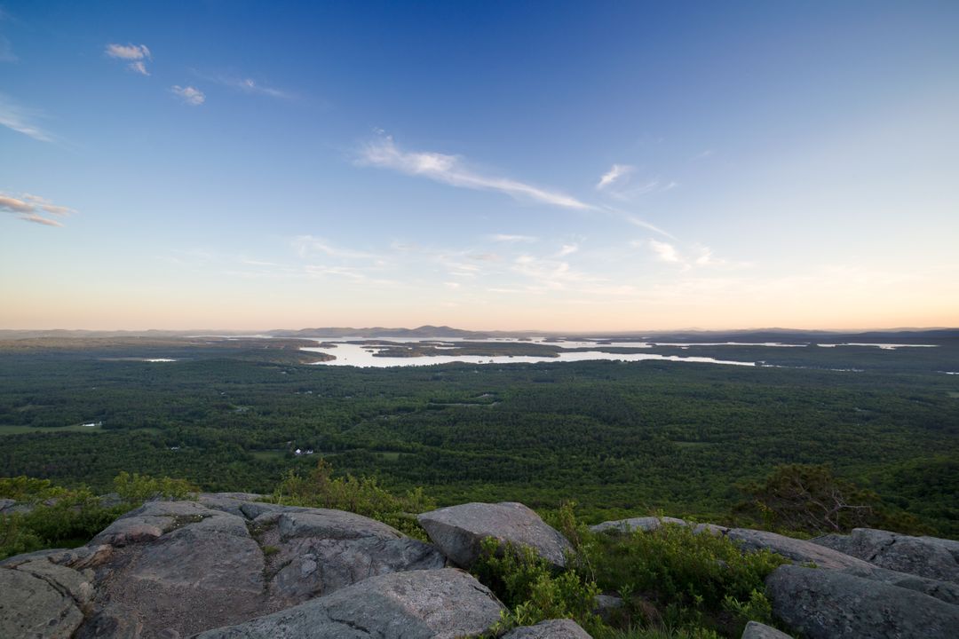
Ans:
{"label": "broad cracked grey rock mass filling the lower left foreground", "polygon": [[27,599],[6,598],[4,619],[16,628],[66,628],[63,636],[80,639],[185,637],[367,578],[446,563],[432,544],[368,517],[245,501],[250,496],[257,495],[149,502],[87,546],[7,559],[6,582],[39,582],[21,589],[32,593]]}

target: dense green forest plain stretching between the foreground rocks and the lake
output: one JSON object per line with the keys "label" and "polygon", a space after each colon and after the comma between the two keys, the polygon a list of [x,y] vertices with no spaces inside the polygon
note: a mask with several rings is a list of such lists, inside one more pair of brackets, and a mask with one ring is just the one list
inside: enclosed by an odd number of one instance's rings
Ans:
{"label": "dense green forest plain stretching between the foreground rocks and the lake", "polygon": [[322,457],[390,490],[423,487],[440,505],[573,500],[595,522],[728,519],[743,487],[774,468],[829,465],[923,530],[959,536],[959,376],[942,372],[951,343],[725,347],[795,368],[362,369],[305,364],[292,339],[24,341],[0,341],[0,476],[108,491],[126,471],[269,492]]}

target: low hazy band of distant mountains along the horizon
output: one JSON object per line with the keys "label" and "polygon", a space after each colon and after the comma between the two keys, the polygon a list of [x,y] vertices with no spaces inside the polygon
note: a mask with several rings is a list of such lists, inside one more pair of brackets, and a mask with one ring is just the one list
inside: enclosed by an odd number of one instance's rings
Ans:
{"label": "low hazy band of distant mountains along the horizon", "polygon": [[421,326],[416,329],[370,327],[323,327],[315,329],[272,331],[8,331],[0,330],[0,339],[27,339],[36,337],[187,337],[196,335],[269,335],[270,337],[301,337],[306,339],[341,339],[344,337],[406,337],[439,339],[495,339],[498,337],[554,339],[616,339],[653,342],[782,342],[802,344],[819,342],[865,342],[920,344],[959,340],[959,329],[895,329],[890,331],[803,331],[793,329],[750,329],[742,331],[464,331],[449,326]]}

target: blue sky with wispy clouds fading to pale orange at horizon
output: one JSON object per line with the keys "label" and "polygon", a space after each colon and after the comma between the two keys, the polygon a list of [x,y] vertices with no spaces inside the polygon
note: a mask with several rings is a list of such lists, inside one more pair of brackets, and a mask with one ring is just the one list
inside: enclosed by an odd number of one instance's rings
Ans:
{"label": "blue sky with wispy clouds fading to pale orange at horizon", "polygon": [[0,0],[0,328],[959,326],[959,3]]}

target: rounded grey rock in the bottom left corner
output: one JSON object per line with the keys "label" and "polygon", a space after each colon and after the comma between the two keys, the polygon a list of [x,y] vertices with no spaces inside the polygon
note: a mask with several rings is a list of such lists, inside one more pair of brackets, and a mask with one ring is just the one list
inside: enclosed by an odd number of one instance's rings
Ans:
{"label": "rounded grey rock in the bottom left corner", "polygon": [[0,568],[0,637],[68,639],[83,614],[69,595],[28,572]]}

